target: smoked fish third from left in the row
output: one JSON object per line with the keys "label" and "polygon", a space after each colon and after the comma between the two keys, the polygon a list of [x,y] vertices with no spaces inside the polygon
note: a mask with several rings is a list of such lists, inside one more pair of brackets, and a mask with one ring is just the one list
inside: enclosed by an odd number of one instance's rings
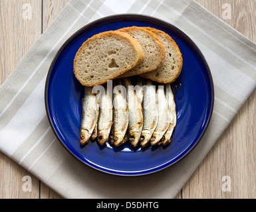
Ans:
{"label": "smoked fish third from left in the row", "polygon": [[[120,80],[118,80],[120,82]],[[122,86],[122,85],[121,85]],[[128,128],[128,102],[124,94],[124,89],[118,90],[117,87],[114,87],[113,91],[113,127],[110,136],[110,143],[114,146],[120,146],[124,143],[124,135]]]}

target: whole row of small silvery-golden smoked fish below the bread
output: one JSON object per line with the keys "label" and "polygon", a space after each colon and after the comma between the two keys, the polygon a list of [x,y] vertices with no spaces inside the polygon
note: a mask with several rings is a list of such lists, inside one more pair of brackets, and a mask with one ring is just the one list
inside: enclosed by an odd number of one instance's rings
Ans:
{"label": "whole row of small silvery-golden smoked fish below the bread", "polygon": [[[84,87],[80,144],[90,139],[134,147],[169,144],[176,127],[176,105],[170,84],[154,85],[150,79],[115,79],[112,92],[106,86],[100,95]],[[103,87],[103,86],[102,86]],[[113,99],[113,101],[112,101]]]}

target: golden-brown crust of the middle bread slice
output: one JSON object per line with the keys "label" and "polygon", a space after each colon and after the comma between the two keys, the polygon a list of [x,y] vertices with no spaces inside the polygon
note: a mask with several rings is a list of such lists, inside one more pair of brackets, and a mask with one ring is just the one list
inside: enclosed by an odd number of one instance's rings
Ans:
{"label": "golden-brown crust of the middle bread slice", "polygon": [[128,26],[128,27],[120,28],[117,31],[129,32],[129,31],[132,31],[132,30],[142,30],[142,31],[150,34],[150,36],[152,36],[156,40],[156,43],[160,46],[161,56],[160,56],[160,58],[158,58],[158,62],[156,63],[155,66],[149,67],[147,70],[144,70],[144,71],[142,71],[140,73],[136,73],[136,74],[134,74],[132,72],[126,72],[125,74],[120,75],[120,77],[122,77],[122,78],[128,77],[128,76],[134,76],[134,75],[138,75],[138,74],[144,74],[144,73],[147,73],[147,72],[152,72],[152,71],[156,70],[157,68],[159,68],[160,66],[162,66],[162,63],[164,62],[164,59],[165,59],[164,44],[162,43],[160,38],[154,32],[151,32],[146,27]]}

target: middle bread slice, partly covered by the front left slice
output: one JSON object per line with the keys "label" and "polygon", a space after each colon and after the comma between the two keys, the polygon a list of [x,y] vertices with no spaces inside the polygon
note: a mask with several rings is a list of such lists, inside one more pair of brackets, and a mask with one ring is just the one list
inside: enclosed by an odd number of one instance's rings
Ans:
{"label": "middle bread slice, partly covered by the front left slice", "polygon": [[134,76],[138,74],[143,74],[146,72],[151,72],[155,70],[159,66],[161,66],[165,51],[164,45],[156,36],[156,34],[152,33],[150,30],[147,30],[143,27],[138,26],[130,26],[126,28],[120,28],[119,31],[127,32],[132,37],[134,37],[140,43],[144,50],[144,60],[138,66],[135,66],[129,72],[118,76],[118,78],[124,78],[128,76]]}

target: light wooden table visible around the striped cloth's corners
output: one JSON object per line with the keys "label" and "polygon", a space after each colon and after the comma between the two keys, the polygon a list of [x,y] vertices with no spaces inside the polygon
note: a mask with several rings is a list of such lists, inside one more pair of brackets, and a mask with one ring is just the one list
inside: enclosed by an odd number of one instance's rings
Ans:
{"label": "light wooden table visible around the striped cloth's corners", "polygon": [[[256,0],[197,0],[227,24],[256,42]],[[23,19],[23,5],[31,5],[31,19]],[[68,0],[0,1],[0,84],[9,76],[41,33],[57,17]],[[224,4],[231,6],[226,19]],[[226,14],[227,15],[227,14]],[[256,197],[256,91],[207,154],[177,198]],[[0,141],[1,142],[1,141]],[[23,177],[32,179],[31,191],[23,191]],[[223,190],[225,176],[231,191]],[[225,186],[224,186],[225,187]],[[0,152],[0,198],[61,198],[31,173]]]}

